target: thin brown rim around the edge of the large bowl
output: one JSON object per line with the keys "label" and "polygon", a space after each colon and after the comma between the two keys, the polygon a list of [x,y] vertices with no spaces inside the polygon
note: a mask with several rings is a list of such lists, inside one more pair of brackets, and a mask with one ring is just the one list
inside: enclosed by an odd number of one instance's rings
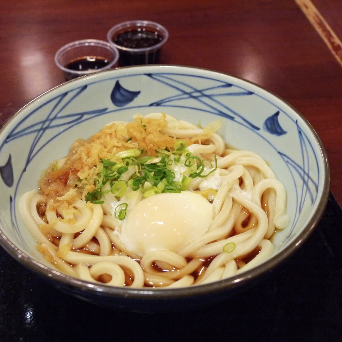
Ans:
{"label": "thin brown rim around the edge of the large bowl", "polygon": [[275,269],[276,266],[279,266],[282,262],[284,262],[286,259],[288,259],[292,254],[294,254],[303,244],[304,242],[310,237],[310,235],[313,233],[314,229],[318,225],[321,217],[323,216],[323,213],[325,211],[325,208],[328,203],[328,198],[330,194],[330,166],[328,161],[328,156],[325,150],[325,147],[323,145],[323,142],[321,141],[320,137],[316,133],[315,129],[312,127],[312,125],[308,122],[308,120],[297,110],[295,109],[290,103],[288,103],[286,100],[284,100],[282,97],[278,96],[277,94],[273,93],[272,91],[269,91],[265,89],[264,87],[260,86],[257,83],[248,81],[241,77],[236,77],[230,74],[222,73],[221,71],[215,71],[212,69],[207,68],[200,68],[200,67],[193,67],[193,66],[186,66],[186,65],[163,65],[163,64],[155,64],[155,65],[136,65],[136,66],[127,66],[127,67],[120,67],[116,69],[111,70],[104,70],[100,71],[95,74],[81,76],[75,79],[71,79],[69,81],[63,82],[61,84],[58,84],[57,86],[41,93],[40,95],[33,98],[30,102],[28,102],[25,106],[23,106],[21,109],[19,109],[8,121],[4,123],[4,125],[0,129],[0,135],[2,134],[3,130],[16,118],[19,116],[24,109],[31,105],[34,102],[37,102],[41,97],[45,96],[46,94],[49,94],[50,92],[53,92],[54,90],[63,87],[65,84],[69,82],[77,82],[79,79],[86,79],[86,78],[95,78],[95,77],[101,77],[103,74],[108,73],[115,73],[117,70],[121,69],[140,69],[140,68],[148,68],[151,67],[156,69],[165,69],[165,68],[177,68],[177,69],[187,69],[187,70],[202,70],[202,71],[208,71],[211,74],[218,74],[221,76],[228,76],[232,77],[234,79],[247,82],[249,84],[252,84],[259,89],[262,89],[266,91],[267,93],[275,96],[278,100],[285,103],[287,106],[290,107],[294,111],[296,115],[298,115],[303,122],[306,124],[307,128],[311,131],[313,136],[315,137],[315,140],[319,147],[319,152],[323,161],[323,172],[324,172],[324,181],[323,181],[323,190],[322,195],[317,203],[317,210],[315,215],[312,216],[310,221],[306,224],[306,226],[303,228],[302,232],[293,240],[291,241],[284,249],[282,249],[281,253],[276,254],[271,259],[266,260],[264,263],[248,270],[245,272],[242,272],[238,275],[222,279],[220,281],[211,282],[209,284],[203,284],[203,285],[197,285],[197,286],[189,286],[189,287],[182,287],[182,288],[129,288],[129,287],[114,287],[109,285],[99,285],[93,282],[89,282],[86,280],[74,278],[73,276],[69,276],[61,271],[58,271],[56,269],[53,269],[49,266],[46,266],[42,263],[40,263],[37,260],[34,260],[33,258],[29,257],[26,253],[18,249],[12,241],[9,240],[8,237],[2,232],[2,227],[0,225],[0,246],[8,252],[11,257],[13,257],[16,261],[24,265],[25,267],[29,268],[31,271],[34,271],[35,273],[38,273],[39,275],[43,276],[45,279],[53,279],[58,282],[63,283],[64,285],[67,285],[71,288],[74,288],[75,290],[81,290],[86,292],[92,292],[92,294],[105,296],[105,297],[112,297],[112,298],[122,298],[122,299],[134,299],[134,300],[167,300],[167,299],[182,299],[186,297],[198,297],[203,295],[211,295],[215,292],[222,292],[222,291],[228,291],[229,289],[233,290],[237,287],[242,287],[244,285],[247,285],[247,283],[252,279],[260,278],[263,274],[266,274],[268,272],[271,272],[273,269]]}

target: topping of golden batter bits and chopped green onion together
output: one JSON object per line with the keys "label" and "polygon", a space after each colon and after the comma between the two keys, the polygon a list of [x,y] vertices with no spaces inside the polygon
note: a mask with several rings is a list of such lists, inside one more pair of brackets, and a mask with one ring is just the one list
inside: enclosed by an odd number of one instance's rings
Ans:
{"label": "topping of golden batter bits and chopped green onion together", "polygon": [[[176,139],[161,133],[167,128],[165,114],[160,119],[137,116],[127,124],[108,124],[87,141],[76,140],[62,163],[52,163],[39,182],[40,192],[68,204],[79,198],[102,204],[103,195],[111,192],[120,198],[129,187],[141,189],[144,197],[180,193],[194,178],[217,169],[216,156],[212,167],[213,161],[201,161],[187,147],[206,144],[218,127],[215,122],[202,136]],[[183,172],[176,177],[180,167]]]}

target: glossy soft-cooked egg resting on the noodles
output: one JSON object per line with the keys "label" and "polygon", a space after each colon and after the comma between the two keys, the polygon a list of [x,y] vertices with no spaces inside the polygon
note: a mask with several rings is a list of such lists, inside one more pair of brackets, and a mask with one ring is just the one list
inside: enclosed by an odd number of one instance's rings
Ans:
{"label": "glossy soft-cooked egg resting on the noodles", "polygon": [[207,232],[213,219],[212,204],[199,194],[157,194],[135,205],[119,237],[135,255],[155,250],[178,252]]}

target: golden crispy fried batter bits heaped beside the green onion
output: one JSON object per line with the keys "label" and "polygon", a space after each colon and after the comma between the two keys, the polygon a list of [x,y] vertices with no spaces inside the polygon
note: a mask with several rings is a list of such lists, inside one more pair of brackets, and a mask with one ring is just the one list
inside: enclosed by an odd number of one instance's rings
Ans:
{"label": "golden crispy fried batter bits heaped beside the green onion", "polygon": [[[88,140],[77,139],[66,158],[51,163],[45,170],[38,184],[40,193],[69,204],[84,199],[95,188],[94,181],[101,171],[101,159],[119,162],[121,159],[114,155],[132,148],[143,150],[147,156],[155,156],[156,149],[173,150],[176,138],[160,132],[166,127],[165,114],[160,119],[138,115],[128,123],[108,124]],[[206,133],[182,140],[188,146],[203,144],[209,135]]]}

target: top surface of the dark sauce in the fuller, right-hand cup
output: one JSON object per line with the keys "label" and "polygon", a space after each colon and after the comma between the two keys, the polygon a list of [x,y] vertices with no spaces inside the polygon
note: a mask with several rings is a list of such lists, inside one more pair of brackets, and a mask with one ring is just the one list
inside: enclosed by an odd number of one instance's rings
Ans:
{"label": "top surface of the dark sauce in the fuller, right-hand cup", "polygon": [[122,32],[113,37],[115,44],[130,49],[149,48],[157,45],[162,40],[163,37],[158,32],[148,31],[145,28]]}

